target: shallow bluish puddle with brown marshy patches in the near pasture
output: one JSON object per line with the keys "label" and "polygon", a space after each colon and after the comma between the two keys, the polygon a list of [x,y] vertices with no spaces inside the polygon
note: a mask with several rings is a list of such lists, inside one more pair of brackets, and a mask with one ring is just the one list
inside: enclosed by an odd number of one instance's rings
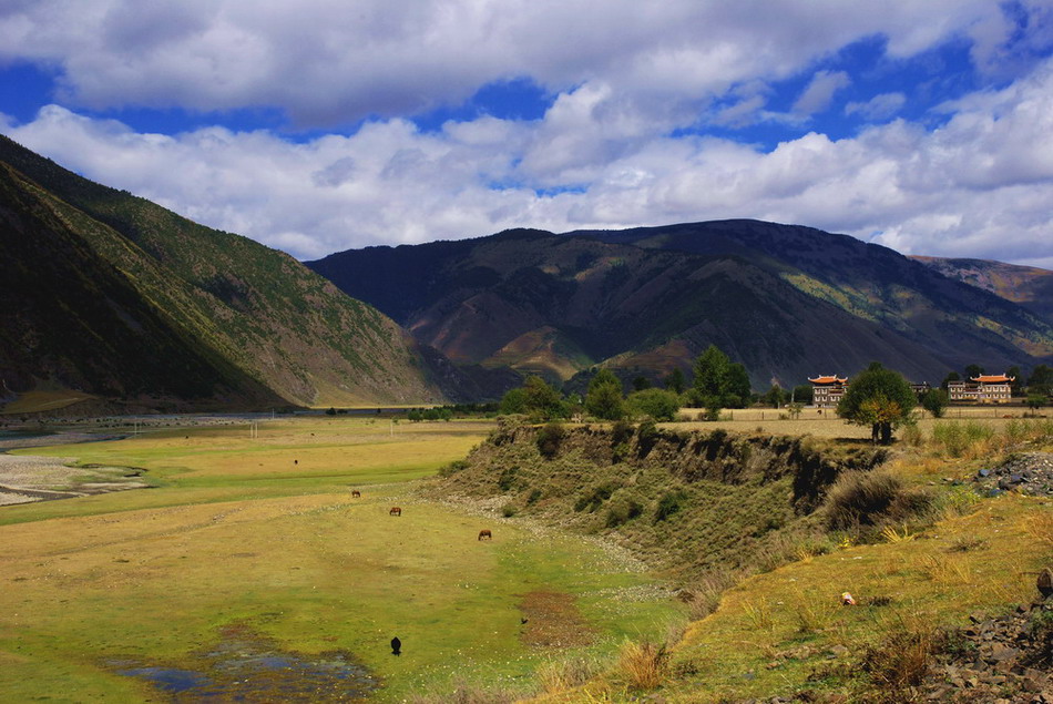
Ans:
{"label": "shallow bluish puddle with brown marshy patches in the near pasture", "polygon": [[355,702],[379,684],[346,651],[318,655],[285,652],[245,625],[227,626],[219,641],[176,664],[109,660],[106,669],[139,677],[171,702]]}

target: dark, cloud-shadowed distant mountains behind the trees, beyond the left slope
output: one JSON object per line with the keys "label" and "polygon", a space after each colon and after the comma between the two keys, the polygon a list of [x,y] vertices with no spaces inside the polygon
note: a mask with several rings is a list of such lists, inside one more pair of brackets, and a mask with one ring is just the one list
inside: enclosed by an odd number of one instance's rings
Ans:
{"label": "dark, cloud-shadowed distant mountains behind the trees, beyond the left slope", "polygon": [[1053,355],[1041,305],[797,225],[512,229],[307,265],[454,361],[552,380],[597,365],[657,379],[688,370],[710,344],[743,363],[758,389],[872,360],[938,382],[969,364],[1003,369]]}

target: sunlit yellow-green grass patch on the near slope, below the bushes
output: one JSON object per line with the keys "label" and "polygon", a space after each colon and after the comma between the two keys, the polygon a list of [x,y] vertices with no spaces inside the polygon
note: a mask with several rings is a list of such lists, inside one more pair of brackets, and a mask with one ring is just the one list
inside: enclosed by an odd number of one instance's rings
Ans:
{"label": "sunlit yellow-green grass patch on the near slope, below the bushes", "polygon": [[[706,695],[714,701],[815,688],[817,682],[807,680],[821,672],[835,645],[859,657],[866,649],[899,637],[904,622],[958,625],[973,611],[996,612],[1029,600],[1034,580],[1024,573],[1053,559],[1053,547],[1036,550],[1029,531],[1034,517],[1049,511],[1035,499],[992,499],[911,541],[812,555],[750,578],[726,592],[713,615],[693,624],[674,662],[693,660],[697,673],[692,679],[705,682]],[[983,542],[960,549],[963,540],[981,535]],[[840,604],[844,591],[853,594],[856,606]],[[800,644],[814,654],[773,659],[773,653]],[[841,673],[826,686],[856,686],[855,679]],[[861,684],[871,686],[878,679]],[[820,688],[822,681],[820,676]],[[671,692],[692,688],[683,681],[666,685]]]}

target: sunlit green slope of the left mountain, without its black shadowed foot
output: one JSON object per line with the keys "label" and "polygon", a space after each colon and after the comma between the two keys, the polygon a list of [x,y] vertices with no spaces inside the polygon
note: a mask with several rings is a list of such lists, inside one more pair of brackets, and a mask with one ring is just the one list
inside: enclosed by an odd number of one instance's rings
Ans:
{"label": "sunlit green slope of the left mountain, without its black shadowed foot", "polygon": [[[159,367],[176,377],[181,371],[188,374],[182,357],[201,357],[233,387],[227,392],[248,390],[263,396],[254,388],[258,385],[287,402],[306,406],[441,399],[426,378],[420,355],[392,320],[343,295],[293,257],[92,183],[2,136],[0,161],[7,162],[0,195],[14,214],[12,222],[18,224],[20,216],[32,213],[32,222],[40,224],[33,234],[38,251],[19,249],[12,261],[21,267],[49,266],[54,252],[48,248],[58,249],[60,239],[70,241],[68,248],[80,259],[74,269],[84,268],[84,261],[91,259],[132,290],[126,298],[115,298],[110,309],[85,303],[85,298],[105,300],[99,292],[85,297],[57,288],[60,299],[41,305],[41,310],[52,316],[62,310],[85,328],[89,338],[95,328],[105,340],[108,326],[127,334],[122,326],[136,330],[145,325],[144,318],[157,318],[155,325],[192,355],[147,357],[167,360]],[[23,288],[23,295],[27,290],[34,288]],[[140,310],[143,307],[147,310]],[[32,317],[16,322],[16,329],[48,327]],[[33,339],[30,333],[27,336]],[[60,354],[70,361],[50,359]],[[117,346],[115,358],[121,354]],[[99,386],[92,374],[81,369],[88,366],[84,358],[92,358],[90,350],[71,350],[59,343],[41,345],[33,361],[52,367],[28,374],[61,378],[72,375],[67,368],[72,366],[85,377],[75,379],[84,388],[93,381]],[[135,361],[131,357],[130,363]],[[163,384],[165,377],[157,369],[153,373],[141,380],[142,388],[121,390],[126,396],[157,395],[177,387]],[[121,375],[111,376],[113,384],[120,382]],[[198,395],[207,398],[209,391],[206,385]],[[213,392],[219,396],[222,390]]]}

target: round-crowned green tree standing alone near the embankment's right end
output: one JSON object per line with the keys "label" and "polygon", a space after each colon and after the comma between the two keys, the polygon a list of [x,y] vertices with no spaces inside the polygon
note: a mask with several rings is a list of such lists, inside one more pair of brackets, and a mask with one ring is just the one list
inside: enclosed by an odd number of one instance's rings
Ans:
{"label": "round-crowned green tree standing alone near the embankment's right end", "polygon": [[857,426],[870,426],[875,442],[890,445],[892,431],[910,422],[917,397],[902,375],[875,361],[848,385],[837,415]]}

